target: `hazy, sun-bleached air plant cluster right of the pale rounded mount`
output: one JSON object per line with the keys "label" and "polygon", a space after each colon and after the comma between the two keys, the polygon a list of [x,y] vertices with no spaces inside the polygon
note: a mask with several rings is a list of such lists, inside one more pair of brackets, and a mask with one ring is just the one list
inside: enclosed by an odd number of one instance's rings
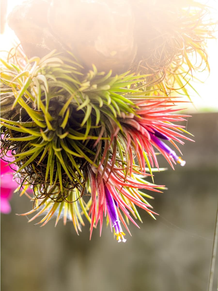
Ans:
{"label": "hazy, sun-bleached air plant cluster right of the pale rounded mount", "polygon": [[[210,70],[205,40],[214,38],[216,22],[208,21],[208,12],[208,6],[194,0],[136,1],[139,49],[131,71],[152,73],[150,79],[156,79],[155,86],[166,94],[177,91],[189,96],[185,85],[191,86],[192,72]],[[149,27],[144,34],[143,25]]]}

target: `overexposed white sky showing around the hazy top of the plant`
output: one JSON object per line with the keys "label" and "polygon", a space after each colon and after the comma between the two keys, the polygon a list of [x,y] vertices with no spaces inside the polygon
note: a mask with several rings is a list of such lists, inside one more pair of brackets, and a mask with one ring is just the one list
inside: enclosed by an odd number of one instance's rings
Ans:
{"label": "overexposed white sky showing around the hazy top of the plant", "polygon": [[[1,0],[4,1],[4,0]],[[212,17],[218,21],[218,1],[208,0],[203,1],[199,0],[202,3],[206,3],[208,6],[212,7]],[[24,2],[24,0],[8,0],[8,13],[12,8]],[[207,42],[207,52],[208,52],[208,61],[210,64],[210,75],[208,72],[199,72],[196,76],[203,81],[203,83],[196,83],[192,81],[192,86],[196,91],[201,95],[199,97],[196,93],[191,95],[193,104],[188,104],[185,107],[189,108],[190,112],[199,112],[199,111],[218,111],[218,90],[216,86],[218,85],[218,26],[216,32],[216,40],[208,40]],[[9,50],[11,48],[11,40],[15,38],[13,31],[8,27],[5,29],[5,33],[1,35],[0,39],[0,49]]]}

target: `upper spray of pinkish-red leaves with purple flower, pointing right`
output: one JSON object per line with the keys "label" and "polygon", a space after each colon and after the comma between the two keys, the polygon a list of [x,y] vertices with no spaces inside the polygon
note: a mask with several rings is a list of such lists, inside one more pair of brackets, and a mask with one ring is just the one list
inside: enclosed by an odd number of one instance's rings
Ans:
{"label": "upper spray of pinkish-red leaves with purple flower, pointing right", "polygon": [[[156,148],[172,168],[174,168],[175,161],[184,166],[185,161],[176,155],[176,152],[171,150],[165,141],[169,141],[179,152],[175,142],[184,144],[181,139],[192,141],[182,134],[184,126],[174,124],[174,122],[185,120],[184,118],[188,116],[172,114],[175,109],[170,108],[171,101],[165,102],[163,99],[157,100],[155,104],[148,101],[146,104],[139,103],[138,105],[139,109],[136,110],[135,116],[126,116],[121,119],[122,131],[127,144],[126,151],[131,161],[137,159],[142,173],[146,172],[146,164],[149,168],[154,166],[159,168],[154,150]],[[129,164],[131,165],[131,163]],[[129,169],[131,172],[131,166]]]}

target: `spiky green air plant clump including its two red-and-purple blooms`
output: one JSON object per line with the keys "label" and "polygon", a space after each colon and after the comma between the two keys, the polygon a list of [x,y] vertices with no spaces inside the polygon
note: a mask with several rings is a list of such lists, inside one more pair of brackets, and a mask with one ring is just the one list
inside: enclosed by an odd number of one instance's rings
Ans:
{"label": "spiky green air plant clump including its two red-and-purple blooms", "polygon": [[[28,214],[38,212],[31,220],[44,213],[40,223],[45,224],[58,212],[57,223],[63,211],[64,223],[71,219],[78,232],[84,214],[91,235],[99,220],[102,228],[104,212],[110,225],[117,225],[118,241],[124,241],[115,218],[128,227],[119,209],[127,223],[135,223],[130,215],[140,219],[135,205],[154,213],[144,199],[150,195],[138,189],[164,189],[142,179],[152,175],[151,166],[158,167],[153,146],[171,166],[174,159],[182,164],[160,140],[175,145],[173,140],[188,139],[181,133],[184,129],[173,124],[186,117],[171,114],[178,101],[146,96],[147,75],[126,72],[112,77],[95,67],[84,75],[73,58],[55,52],[30,59],[23,70],[4,65],[2,150],[12,151],[15,175],[33,188],[34,209]],[[11,100],[17,111],[11,110]]]}

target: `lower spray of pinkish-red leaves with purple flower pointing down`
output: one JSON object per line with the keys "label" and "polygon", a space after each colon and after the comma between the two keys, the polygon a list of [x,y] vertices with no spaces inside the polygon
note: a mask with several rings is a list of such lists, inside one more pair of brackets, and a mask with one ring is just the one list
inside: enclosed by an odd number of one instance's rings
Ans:
{"label": "lower spray of pinkish-red leaves with purple flower pointing down", "polygon": [[[125,215],[127,222],[128,220],[132,221],[138,228],[139,226],[134,219],[137,217],[140,221],[141,219],[139,215],[135,215],[135,205],[146,210],[153,218],[153,214],[157,214],[149,209],[152,207],[144,199],[146,194],[139,191],[139,188],[161,192],[155,188],[163,186],[157,186],[137,178],[134,173],[135,169],[132,169],[131,176],[125,178],[122,167],[119,167],[119,165],[112,165],[110,162],[108,162],[107,166],[105,171],[103,165],[99,166],[99,169],[96,169],[93,165],[88,166],[88,175],[90,179],[89,191],[92,198],[92,204],[89,210],[89,215],[91,215],[90,239],[93,227],[96,227],[98,222],[100,222],[101,235],[103,216],[107,216],[111,230],[112,227],[115,229],[117,241],[125,242],[125,233],[121,228],[121,223],[129,234],[130,231],[122,214]],[[139,173],[138,169],[137,173]],[[149,197],[151,198],[151,196]]]}

